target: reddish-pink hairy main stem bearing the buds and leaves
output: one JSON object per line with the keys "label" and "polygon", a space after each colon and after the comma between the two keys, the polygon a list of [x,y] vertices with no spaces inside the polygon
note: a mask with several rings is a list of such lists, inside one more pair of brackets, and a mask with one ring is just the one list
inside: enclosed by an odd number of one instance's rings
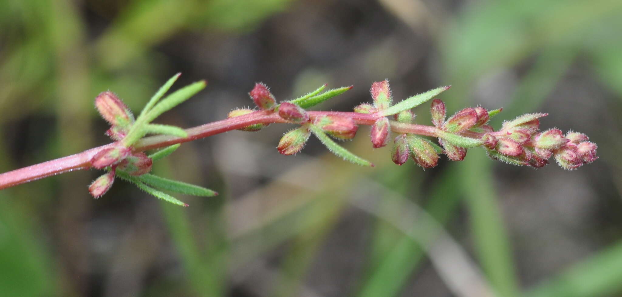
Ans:
{"label": "reddish-pink hairy main stem bearing the buds and leaves", "polygon": [[[314,112],[310,111],[309,116],[312,118],[323,117],[325,115],[341,115],[351,117],[358,125],[373,125],[379,118],[374,113],[356,113],[356,112]],[[157,135],[142,138],[134,145],[134,151],[146,151],[149,149],[164,148],[177,143],[185,143],[187,141],[198,140],[207,136],[220,134],[226,131],[236,130],[258,123],[290,123],[279,117],[277,113],[269,111],[257,111],[248,113],[234,118],[226,118],[217,122],[207,123],[205,125],[188,128],[185,131],[188,137],[179,138],[168,135]],[[413,133],[424,136],[436,136],[434,126],[407,124],[391,121],[391,130],[396,133]],[[469,135],[471,136],[471,135]],[[472,135],[476,136],[476,135]],[[91,159],[101,149],[113,146],[115,143],[109,143],[97,148],[88,149],[78,154],[67,157],[61,157],[47,162],[42,162],[32,166],[16,169],[14,171],[0,174],[0,190],[3,188],[13,187],[14,185],[32,182],[33,180],[43,179],[52,175],[62,174],[65,172],[90,169]]]}

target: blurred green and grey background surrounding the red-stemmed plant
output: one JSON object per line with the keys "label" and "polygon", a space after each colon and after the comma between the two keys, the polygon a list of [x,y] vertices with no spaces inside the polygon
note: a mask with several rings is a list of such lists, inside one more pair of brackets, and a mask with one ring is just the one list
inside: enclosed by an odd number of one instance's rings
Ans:
{"label": "blurred green and grey background surrounding the red-stemmed plant", "polygon": [[[355,85],[324,110],[452,84],[450,112],[549,112],[587,133],[578,171],[489,161],[422,171],[373,150],[343,162],[312,141],[277,153],[287,127],[194,141],[155,166],[214,188],[161,203],[96,171],[0,192],[0,296],[622,296],[622,1],[3,0],[0,170],[107,143],[95,96],[139,110],[179,71],[209,86],[163,115],[183,127],[251,104],[256,81],[290,99]],[[418,110],[428,123],[427,107]]]}

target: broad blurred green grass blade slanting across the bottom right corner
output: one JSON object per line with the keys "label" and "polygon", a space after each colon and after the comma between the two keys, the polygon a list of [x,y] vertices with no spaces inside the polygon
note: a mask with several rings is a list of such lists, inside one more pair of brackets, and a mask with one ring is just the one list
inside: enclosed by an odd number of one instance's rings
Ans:
{"label": "broad blurred green grass blade slanting across the bottom right corner", "polygon": [[622,293],[622,241],[529,290],[527,297],[619,296]]}

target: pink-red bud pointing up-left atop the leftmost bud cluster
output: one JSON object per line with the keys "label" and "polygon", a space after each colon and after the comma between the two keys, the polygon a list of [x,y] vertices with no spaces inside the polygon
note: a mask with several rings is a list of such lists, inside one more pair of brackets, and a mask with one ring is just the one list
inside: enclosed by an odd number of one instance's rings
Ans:
{"label": "pink-red bud pointing up-left atop the leftmost bud cluster", "polygon": [[128,106],[113,92],[101,92],[95,98],[95,107],[110,125],[129,128],[134,123],[134,116]]}

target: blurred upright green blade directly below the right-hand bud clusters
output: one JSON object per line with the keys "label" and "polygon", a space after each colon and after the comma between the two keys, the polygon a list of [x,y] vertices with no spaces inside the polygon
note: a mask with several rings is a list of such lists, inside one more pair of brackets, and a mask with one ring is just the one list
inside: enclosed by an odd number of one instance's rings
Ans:
{"label": "blurred upright green blade directly below the right-hand bud clusters", "polygon": [[501,296],[520,296],[511,245],[493,187],[492,164],[471,149],[460,164],[460,188],[466,197],[473,241],[486,276]]}

